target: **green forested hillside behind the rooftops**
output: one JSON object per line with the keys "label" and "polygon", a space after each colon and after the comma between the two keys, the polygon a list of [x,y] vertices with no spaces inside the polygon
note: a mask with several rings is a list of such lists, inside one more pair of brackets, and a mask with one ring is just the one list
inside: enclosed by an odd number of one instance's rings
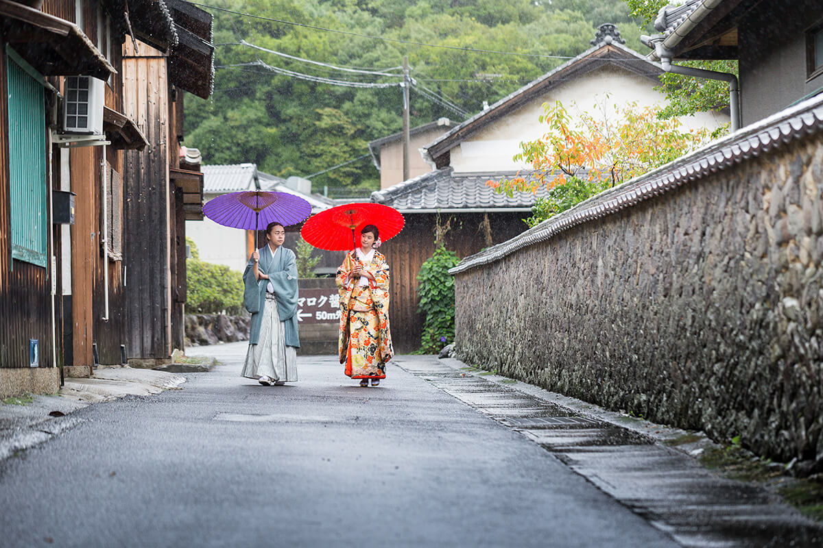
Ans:
{"label": "green forested hillside behind the rooftops", "polygon": [[403,56],[415,127],[462,122],[591,47],[604,22],[646,49],[622,0],[194,3],[215,16],[216,80],[211,99],[186,97],[184,144],[339,196],[379,187],[367,143],[402,129]]}

